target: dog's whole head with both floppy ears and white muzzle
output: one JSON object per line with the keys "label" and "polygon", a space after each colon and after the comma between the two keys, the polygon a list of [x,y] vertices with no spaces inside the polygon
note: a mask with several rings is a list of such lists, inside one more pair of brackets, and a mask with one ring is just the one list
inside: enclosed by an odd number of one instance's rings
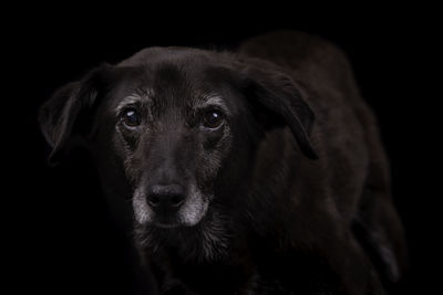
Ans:
{"label": "dog's whole head with both floppy ears and white muzzle", "polygon": [[289,126],[300,150],[316,158],[313,114],[301,96],[262,61],[148,49],[59,89],[40,123],[50,160],[84,144],[103,187],[132,200],[137,223],[194,226],[217,198],[241,191],[269,128]]}

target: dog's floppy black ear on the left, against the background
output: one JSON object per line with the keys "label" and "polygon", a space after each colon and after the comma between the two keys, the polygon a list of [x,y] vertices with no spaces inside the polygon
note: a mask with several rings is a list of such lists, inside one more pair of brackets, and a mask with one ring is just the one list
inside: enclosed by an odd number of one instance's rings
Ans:
{"label": "dog's floppy black ear on the left, against the background", "polygon": [[104,64],[81,81],[62,86],[41,106],[39,124],[52,148],[50,165],[58,164],[69,144],[81,137],[86,125],[85,117],[96,101],[103,75],[110,67]]}

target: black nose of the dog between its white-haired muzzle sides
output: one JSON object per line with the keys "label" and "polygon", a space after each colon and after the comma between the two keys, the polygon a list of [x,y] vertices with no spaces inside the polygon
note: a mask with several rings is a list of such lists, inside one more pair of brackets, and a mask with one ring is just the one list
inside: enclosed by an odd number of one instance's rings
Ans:
{"label": "black nose of the dog between its white-haired muzzle sides", "polygon": [[184,201],[185,191],[179,185],[155,185],[147,192],[147,202],[153,208],[178,208]]}

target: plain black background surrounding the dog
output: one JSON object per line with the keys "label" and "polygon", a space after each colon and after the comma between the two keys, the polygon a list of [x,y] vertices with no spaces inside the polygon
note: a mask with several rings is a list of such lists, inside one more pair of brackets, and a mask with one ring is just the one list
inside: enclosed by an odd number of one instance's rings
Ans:
{"label": "plain black background surrounding the dog", "polygon": [[[272,8],[261,13],[210,8],[187,14],[172,8],[122,9],[107,14],[71,7],[52,12],[14,10],[2,23],[3,64],[10,91],[2,102],[3,147],[12,186],[7,200],[6,261],[13,294],[125,294],[130,284],[123,239],[109,218],[93,169],[83,155],[62,166],[49,152],[37,124],[38,107],[64,83],[102,62],[115,63],[152,45],[235,49],[244,39],[277,29],[321,35],[343,49],[381,126],[392,167],[394,201],[404,222],[410,273],[402,294],[425,294],[437,282],[435,230],[441,220],[435,190],[441,171],[434,130],[436,48],[441,38],[432,9],[385,7],[353,12]],[[43,9],[44,10],[44,9]],[[19,11],[19,12],[18,12]],[[220,12],[215,17],[215,11]],[[309,13],[308,13],[309,12]],[[235,15],[234,15],[235,14]],[[12,78],[11,78],[12,77]],[[81,162],[81,164],[79,164]],[[86,171],[84,168],[89,167]],[[12,178],[10,179],[10,176]],[[439,177],[439,178],[437,178]],[[10,202],[8,202],[10,201]]]}

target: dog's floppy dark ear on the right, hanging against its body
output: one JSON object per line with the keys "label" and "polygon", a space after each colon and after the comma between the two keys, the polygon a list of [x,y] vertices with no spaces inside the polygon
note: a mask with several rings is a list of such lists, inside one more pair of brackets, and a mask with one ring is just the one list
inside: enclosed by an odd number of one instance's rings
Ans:
{"label": "dog's floppy dark ear on the right, hanging against its body", "polygon": [[267,110],[270,124],[289,126],[305,156],[318,159],[309,138],[315,115],[293,80],[265,61],[243,59],[239,64],[246,96]]}

